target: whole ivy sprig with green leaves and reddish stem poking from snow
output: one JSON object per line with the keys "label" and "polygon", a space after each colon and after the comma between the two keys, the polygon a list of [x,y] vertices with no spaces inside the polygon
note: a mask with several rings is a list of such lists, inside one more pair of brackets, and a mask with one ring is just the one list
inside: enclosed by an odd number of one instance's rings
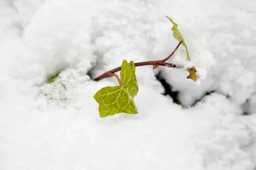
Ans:
{"label": "whole ivy sprig with green leaves and reddish stem poking from snow", "polygon": [[[166,17],[174,25],[172,27],[173,36],[179,41],[175,50],[168,57],[162,60],[136,62],[136,63],[134,63],[134,61],[131,61],[130,63],[128,63],[124,59],[120,67],[107,71],[106,73],[94,79],[95,81],[99,81],[101,79],[114,76],[119,82],[119,86],[102,88],[93,96],[96,102],[99,103],[100,117],[107,117],[107,116],[115,115],[117,113],[129,113],[129,114],[138,113],[137,108],[134,104],[134,96],[136,96],[137,92],[139,91],[139,88],[137,85],[137,79],[135,75],[135,67],[144,66],[144,65],[153,65],[153,69],[155,68],[157,69],[159,68],[159,66],[183,69],[182,66],[166,62],[170,57],[172,57],[172,55],[175,53],[177,48],[179,48],[180,44],[182,44],[186,48],[186,54],[188,57],[187,59],[190,60],[188,47],[184,41],[182,34],[178,29],[177,23],[175,23],[170,17],[168,16]],[[121,71],[120,72],[121,80],[115,74],[117,71]],[[197,81],[199,77],[196,74],[197,71],[194,66],[192,66],[192,68],[186,68],[186,71],[189,72],[189,76],[187,77],[188,79]]]}

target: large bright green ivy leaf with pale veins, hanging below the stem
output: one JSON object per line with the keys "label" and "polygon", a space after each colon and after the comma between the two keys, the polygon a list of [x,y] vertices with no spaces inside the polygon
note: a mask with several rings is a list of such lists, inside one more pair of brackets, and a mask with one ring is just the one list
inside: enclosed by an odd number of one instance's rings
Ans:
{"label": "large bright green ivy leaf with pale veins, hanging below the stem", "polygon": [[99,103],[99,116],[107,117],[116,113],[138,113],[134,104],[134,96],[139,91],[135,76],[135,65],[125,59],[121,65],[121,86],[100,89],[93,98]]}

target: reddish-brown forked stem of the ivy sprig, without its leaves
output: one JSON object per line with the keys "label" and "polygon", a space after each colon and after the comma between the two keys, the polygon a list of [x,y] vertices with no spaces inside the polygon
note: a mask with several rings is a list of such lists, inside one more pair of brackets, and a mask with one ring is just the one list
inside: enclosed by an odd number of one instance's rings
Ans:
{"label": "reddish-brown forked stem of the ivy sprig, without its leaves", "polygon": [[[166,57],[165,59],[162,59],[162,60],[155,60],[155,61],[146,61],[146,62],[136,62],[134,63],[135,67],[138,67],[138,66],[143,66],[143,65],[161,65],[161,66],[166,66],[166,67],[172,67],[172,68],[176,68],[177,65],[174,65],[172,63],[167,63],[165,62],[167,59],[169,59],[170,57],[172,57],[172,55],[175,53],[175,51],[177,50],[177,48],[179,48],[180,44],[182,43],[183,41],[180,41],[179,44],[177,45],[177,47],[175,48],[174,51],[172,51],[172,54],[170,54],[168,57]],[[117,79],[119,80],[118,76],[115,74],[113,75],[115,72],[117,71],[120,71],[121,70],[121,67],[117,67],[117,68],[114,68],[113,70],[110,70],[102,75],[100,75],[99,77],[96,77],[95,79],[93,79],[94,81],[99,81],[101,79],[104,79],[104,78],[107,78],[107,77],[117,77]],[[120,80],[119,80],[119,84],[120,84]]]}

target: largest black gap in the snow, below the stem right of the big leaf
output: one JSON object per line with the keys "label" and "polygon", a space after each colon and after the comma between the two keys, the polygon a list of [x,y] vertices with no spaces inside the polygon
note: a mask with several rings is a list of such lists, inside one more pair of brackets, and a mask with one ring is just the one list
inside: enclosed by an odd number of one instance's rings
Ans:
{"label": "largest black gap in the snow, below the stem right of the big leaf", "polygon": [[159,72],[156,75],[156,77],[157,77],[157,80],[161,82],[161,84],[163,85],[163,88],[165,89],[165,92],[163,93],[163,95],[165,96],[169,95],[170,97],[172,97],[174,103],[181,105],[181,102],[178,99],[179,91],[172,91],[172,86],[169,85],[169,83],[167,83],[163,77],[161,77],[161,72]]}

